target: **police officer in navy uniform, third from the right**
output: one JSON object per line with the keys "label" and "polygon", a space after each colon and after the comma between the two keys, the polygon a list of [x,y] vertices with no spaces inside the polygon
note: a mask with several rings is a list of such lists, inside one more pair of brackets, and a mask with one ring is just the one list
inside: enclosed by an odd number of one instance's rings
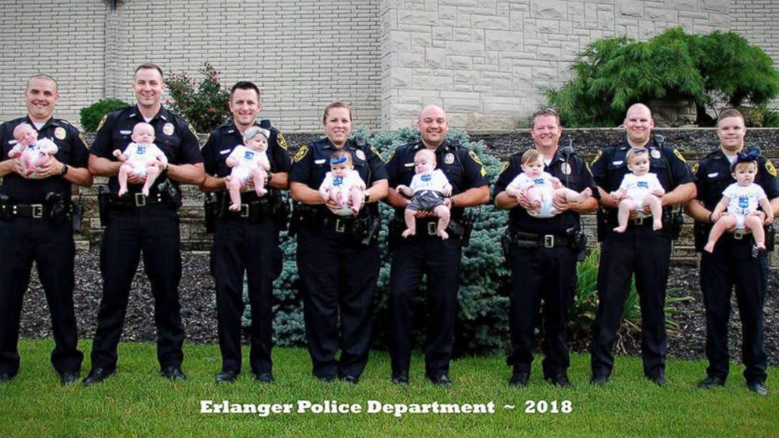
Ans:
{"label": "police officer in navy uniform, third from the right", "polygon": [[[495,183],[495,207],[510,209],[505,239],[507,260],[511,267],[510,316],[511,355],[513,366],[509,384],[527,386],[533,361],[533,338],[537,327],[541,299],[544,300],[544,378],[559,387],[572,387],[567,370],[570,366],[566,343],[567,313],[576,294],[576,257],[586,244],[582,238],[580,214],[597,209],[597,187],[581,157],[570,148],[559,149],[560,127],[557,113],[541,109],[533,116],[535,149],[545,158],[545,171],[559,178],[562,185],[576,192],[589,188],[594,196],[582,203],[555,199],[554,217],[539,219],[527,210],[535,207],[524,196],[513,197],[506,187],[522,172],[523,153],[513,154]],[[521,201],[521,203],[520,203]],[[520,207],[520,208],[516,208]]]}

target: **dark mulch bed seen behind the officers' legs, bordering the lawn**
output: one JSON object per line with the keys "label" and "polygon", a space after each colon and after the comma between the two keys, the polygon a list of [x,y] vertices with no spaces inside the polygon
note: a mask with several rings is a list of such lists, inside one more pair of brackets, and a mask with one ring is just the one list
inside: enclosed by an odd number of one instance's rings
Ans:
{"label": "dark mulch bed seen behind the officers' legs, bordering the lawn", "polygon": [[[143,265],[143,263],[142,263]],[[130,291],[129,306],[125,317],[122,339],[131,341],[155,341],[154,299],[150,284],[139,269]],[[100,281],[100,256],[79,251],[76,255],[76,291],[74,301],[79,321],[79,337],[91,339],[96,325],[97,308],[102,294]],[[22,337],[51,337],[51,320],[46,298],[33,272],[33,280],[24,298],[21,319]],[[213,278],[209,271],[209,257],[202,253],[185,253],[183,257],[182,284],[179,288],[187,341],[196,343],[217,342],[216,300]],[[685,312],[674,316],[679,328],[669,333],[669,355],[682,359],[705,357],[706,324],[703,313],[703,296],[700,294],[698,270],[691,267],[672,267],[668,280],[669,296],[689,296],[693,301],[677,305]],[[675,291],[670,291],[676,289]],[[735,297],[732,303],[729,347],[731,358],[741,358],[741,323]],[[779,366],[779,273],[770,274],[765,306],[765,342],[768,361]],[[587,351],[586,343],[574,344],[575,350]],[[625,334],[618,345],[621,352],[640,353],[640,337]]]}

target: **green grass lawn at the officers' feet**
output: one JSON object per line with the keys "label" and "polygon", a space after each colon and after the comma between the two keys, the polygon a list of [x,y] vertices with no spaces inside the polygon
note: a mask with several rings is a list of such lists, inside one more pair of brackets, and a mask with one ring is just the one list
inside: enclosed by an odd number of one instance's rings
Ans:
{"label": "green grass lawn at the officers' feet", "polygon": [[[273,351],[276,382],[259,385],[249,367],[238,382],[217,386],[220,366],[216,345],[185,345],[189,380],[172,383],[157,375],[153,344],[123,342],[119,374],[95,387],[62,387],[51,369],[50,340],[19,343],[22,369],[12,383],[0,386],[0,436],[777,436],[779,387],[770,395],[749,393],[740,373],[731,367],[724,388],[697,390],[705,363],[668,361],[671,385],[656,387],[643,378],[640,359],[618,357],[606,387],[590,387],[589,356],[573,355],[569,376],[576,388],[559,390],[541,380],[535,362],[527,389],[509,388],[510,369],[504,358],[453,362],[455,386],[434,387],[424,378],[421,356],[412,362],[411,384],[395,387],[389,380],[390,359],[372,354],[357,386],[319,383],[310,376],[308,353],[299,348]],[[82,342],[86,351],[89,342]],[[87,351],[88,352],[88,351]],[[245,361],[248,350],[245,349]],[[89,361],[83,369],[89,369]],[[776,376],[779,369],[769,373]],[[769,384],[770,384],[769,380]],[[358,403],[488,403],[494,415],[298,414],[203,415],[201,400],[232,403],[292,403],[298,400]],[[528,414],[528,400],[569,400],[570,414]],[[514,410],[505,404],[516,405]]]}

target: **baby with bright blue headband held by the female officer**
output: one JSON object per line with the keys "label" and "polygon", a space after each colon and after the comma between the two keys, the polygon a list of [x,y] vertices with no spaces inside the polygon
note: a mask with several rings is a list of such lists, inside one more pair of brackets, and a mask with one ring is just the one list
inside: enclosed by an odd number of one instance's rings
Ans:
{"label": "baby with bright blue headband held by the female officer", "polygon": [[340,210],[336,214],[339,216],[359,213],[365,200],[365,181],[354,170],[348,150],[336,150],[330,156],[330,171],[319,185],[319,194],[325,202],[333,200],[338,204]]}

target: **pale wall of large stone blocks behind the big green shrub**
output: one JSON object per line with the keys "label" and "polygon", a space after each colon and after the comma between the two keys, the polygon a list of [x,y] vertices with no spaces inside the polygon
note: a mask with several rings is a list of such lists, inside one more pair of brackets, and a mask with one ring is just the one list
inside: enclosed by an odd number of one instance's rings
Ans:
{"label": "pale wall of large stone blocks behind the big green shrub", "polygon": [[384,0],[381,17],[382,125],[392,129],[425,104],[466,129],[516,128],[600,37],[738,26],[779,52],[777,0]]}

